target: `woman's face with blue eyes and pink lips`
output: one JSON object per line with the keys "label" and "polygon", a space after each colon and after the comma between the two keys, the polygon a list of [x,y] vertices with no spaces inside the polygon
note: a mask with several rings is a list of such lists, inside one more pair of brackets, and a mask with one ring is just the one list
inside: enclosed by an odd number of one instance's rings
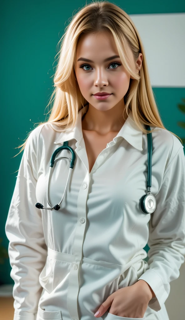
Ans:
{"label": "woman's face with blue eyes and pink lips", "polygon": [[[132,70],[135,70],[133,53],[129,48]],[[76,50],[75,73],[83,97],[98,110],[109,110],[121,104],[124,108],[124,96],[129,88],[131,75],[121,63],[116,44],[108,31],[84,34],[78,41]],[[78,61],[78,59],[83,58]],[[88,60],[92,60],[87,61]],[[108,61],[104,61],[104,60]],[[107,92],[109,97],[97,100],[95,93]]]}

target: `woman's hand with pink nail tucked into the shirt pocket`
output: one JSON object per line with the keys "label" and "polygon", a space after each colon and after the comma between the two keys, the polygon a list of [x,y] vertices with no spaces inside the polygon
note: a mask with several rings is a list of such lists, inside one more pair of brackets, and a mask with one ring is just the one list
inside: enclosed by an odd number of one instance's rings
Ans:
{"label": "woman's hand with pink nail tucked into the shirt pocket", "polygon": [[149,300],[153,296],[153,291],[151,290],[144,280],[138,280],[131,286],[118,289],[101,304],[98,309],[100,313],[96,317],[102,316],[111,306],[109,313],[113,315],[127,318],[143,318]]}

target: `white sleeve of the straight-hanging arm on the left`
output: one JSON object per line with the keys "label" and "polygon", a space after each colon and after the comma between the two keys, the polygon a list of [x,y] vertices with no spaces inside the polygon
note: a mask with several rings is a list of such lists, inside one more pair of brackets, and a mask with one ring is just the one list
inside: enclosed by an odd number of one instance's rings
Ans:
{"label": "white sleeve of the straight-hanging arm on the left", "polygon": [[[36,204],[36,129],[27,140],[5,224],[8,253],[14,280],[13,320],[35,320],[42,287],[39,275],[47,258],[41,209]],[[37,160],[36,160],[37,159]]]}

